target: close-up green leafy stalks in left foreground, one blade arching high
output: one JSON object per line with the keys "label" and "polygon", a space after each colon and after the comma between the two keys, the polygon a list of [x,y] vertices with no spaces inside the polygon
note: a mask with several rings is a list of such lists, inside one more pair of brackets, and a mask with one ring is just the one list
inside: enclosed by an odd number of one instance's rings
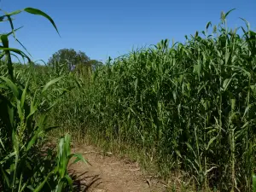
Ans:
{"label": "close-up green leafy stalks in left foreground, one blade arching high", "polygon": [[[0,55],[0,190],[1,191],[67,191],[73,190],[73,180],[67,172],[67,165],[72,157],[74,162],[84,160],[80,154],[70,153],[70,136],[61,137],[55,153],[54,148],[46,145],[46,134],[56,127],[48,126],[50,110],[57,103],[47,101],[50,88],[60,83],[63,77],[49,80],[49,74],[44,67],[38,67],[37,72],[47,77],[47,82],[40,79],[42,87],[31,86],[35,83],[35,73],[31,73],[35,65],[29,57],[19,49],[9,48],[9,35],[14,35],[12,15],[22,10],[5,14],[12,32],[1,34]],[[47,18],[57,30],[54,21],[38,9],[23,9],[33,15]],[[16,38],[15,38],[16,39]],[[18,41],[18,39],[16,39]],[[18,41],[19,42],[19,41]],[[12,53],[26,57],[29,66],[14,65],[11,61]],[[39,70],[41,69],[41,70]],[[26,73],[26,78],[20,76],[20,71]],[[62,95],[64,89],[57,89]],[[45,105],[45,103],[47,103]]]}

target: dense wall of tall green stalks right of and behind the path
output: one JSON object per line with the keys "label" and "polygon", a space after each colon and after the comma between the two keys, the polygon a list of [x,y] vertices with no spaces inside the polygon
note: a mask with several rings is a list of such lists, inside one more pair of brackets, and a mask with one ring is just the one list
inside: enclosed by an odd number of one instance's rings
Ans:
{"label": "dense wall of tall green stalks right of and behind the path", "polygon": [[[55,67],[15,65],[15,74],[20,84],[28,82],[32,98],[41,98],[52,84],[38,102],[40,113],[51,108],[45,124],[61,126],[51,134],[68,131],[82,142],[90,138],[122,153],[136,152],[157,176],[171,178],[172,191],[182,186],[183,191],[251,192],[253,180],[256,190],[256,32],[247,20],[230,29],[229,14],[221,14],[218,26],[209,22],[203,32],[186,36],[184,44],[162,40],[109,59],[93,72],[90,66],[69,72],[56,62]],[[18,105],[17,115],[25,101],[19,93],[16,100],[9,97]],[[10,143],[12,134],[3,135],[4,129],[1,125],[1,137]]]}

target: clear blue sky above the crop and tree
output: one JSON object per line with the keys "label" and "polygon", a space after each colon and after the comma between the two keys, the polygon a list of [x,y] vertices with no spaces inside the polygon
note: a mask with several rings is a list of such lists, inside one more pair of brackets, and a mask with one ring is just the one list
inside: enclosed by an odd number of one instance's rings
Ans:
{"label": "clear blue sky above the crop and tree", "polygon": [[[236,10],[228,19],[230,26],[240,26],[239,17],[248,20],[253,30],[256,26],[256,0],[2,0],[0,3],[0,8],[9,12],[26,7],[49,14],[61,33],[60,38],[42,17],[15,16],[15,26],[24,26],[17,37],[33,60],[44,61],[64,48],[82,50],[91,59],[106,61],[108,56],[114,58],[132,47],[156,44],[164,38],[183,41],[184,35],[204,30],[207,21],[218,24],[220,12],[233,8]],[[0,32],[9,32],[9,28]]]}

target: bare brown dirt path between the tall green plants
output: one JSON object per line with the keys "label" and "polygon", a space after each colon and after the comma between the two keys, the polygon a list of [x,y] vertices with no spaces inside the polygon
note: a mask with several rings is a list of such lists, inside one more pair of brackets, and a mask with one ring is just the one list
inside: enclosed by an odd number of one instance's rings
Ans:
{"label": "bare brown dirt path between the tall green plants", "polygon": [[77,145],[75,153],[84,155],[90,165],[79,162],[70,170],[79,176],[89,192],[163,192],[162,184],[143,175],[137,163],[120,160],[113,154],[103,155],[94,147]]}

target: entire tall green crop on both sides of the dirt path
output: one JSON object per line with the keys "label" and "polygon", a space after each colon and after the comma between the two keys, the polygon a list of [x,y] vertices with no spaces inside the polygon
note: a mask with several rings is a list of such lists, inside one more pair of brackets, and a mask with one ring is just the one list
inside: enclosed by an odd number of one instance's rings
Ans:
{"label": "entire tall green crop on both sides of the dirt path", "polygon": [[[38,9],[23,11],[44,16]],[[14,63],[1,34],[0,191],[67,191],[70,139],[135,158],[170,191],[256,191],[256,32],[247,20],[186,42],[132,50],[99,67]],[[39,38],[39,37],[38,37]],[[39,150],[48,136],[56,150]],[[174,182],[178,177],[179,182]]]}

